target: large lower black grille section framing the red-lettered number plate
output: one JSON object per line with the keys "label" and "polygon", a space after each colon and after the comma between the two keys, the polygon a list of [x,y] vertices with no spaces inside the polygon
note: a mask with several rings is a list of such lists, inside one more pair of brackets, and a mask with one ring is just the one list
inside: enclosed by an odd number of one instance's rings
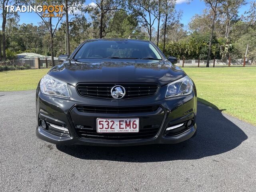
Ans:
{"label": "large lower black grille section framing the red-lettered number plate", "polygon": [[[108,115],[110,114],[110,115]],[[133,114],[133,115],[131,115]],[[97,118],[139,118],[139,132],[97,133]],[[161,106],[82,106],[70,111],[70,117],[80,138],[99,140],[133,140],[153,138],[164,120]]]}

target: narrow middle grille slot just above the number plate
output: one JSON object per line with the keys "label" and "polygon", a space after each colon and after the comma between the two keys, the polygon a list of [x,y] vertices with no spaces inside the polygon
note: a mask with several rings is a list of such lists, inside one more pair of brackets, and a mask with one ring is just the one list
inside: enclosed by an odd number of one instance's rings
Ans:
{"label": "narrow middle grille slot just above the number plate", "polygon": [[160,106],[128,106],[128,107],[110,107],[110,106],[76,106],[80,112],[102,113],[102,114],[125,114],[140,112],[155,112]]}

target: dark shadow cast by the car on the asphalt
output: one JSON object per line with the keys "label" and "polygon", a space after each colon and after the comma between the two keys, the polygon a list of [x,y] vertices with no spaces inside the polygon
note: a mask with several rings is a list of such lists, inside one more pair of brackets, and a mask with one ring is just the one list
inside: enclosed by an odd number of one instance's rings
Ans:
{"label": "dark shadow cast by the car on the asphalt", "polygon": [[76,158],[87,160],[159,162],[199,159],[222,154],[236,148],[248,138],[236,124],[222,115],[222,110],[216,110],[198,102],[197,111],[196,136],[182,143],[127,147],[74,145],[57,146],[57,149]]}

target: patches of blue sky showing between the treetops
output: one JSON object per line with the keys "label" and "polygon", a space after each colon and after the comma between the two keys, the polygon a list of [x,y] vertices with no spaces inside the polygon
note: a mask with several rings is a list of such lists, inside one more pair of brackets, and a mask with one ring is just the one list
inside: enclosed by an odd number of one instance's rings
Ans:
{"label": "patches of blue sky showing between the treetops", "polygon": [[[180,22],[183,23],[184,25],[187,25],[190,22],[192,16],[194,16],[195,14],[201,14],[202,11],[207,8],[204,4],[204,1],[190,0],[190,3],[187,3],[188,1],[189,0],[177,0],[176,2],[176,10],[180,10],[183,12]],[[249,1],[250,0],[248,0],[248,2]],[[92,2],[91,0],[87,0],[86,4],[90,4],[91,2]],[[248,10],[248,8],[250,8],[250,4],[247,4],[246,6],[243,6],[242,8],[240,8],[239,15],[244,14],[244,12]],[[0,10],[0,13],[1,13],[1,10]],[[32,23],[34,25],[37,25],[38,22],[42,22],[42,19],[34,12],[31,12],[31,13],[22,12],[19,14],[20,14],[20,22],[19,22],[20,24]],[[62,18],[62,20],[64,20],[64,18]],[[0,18],[0,23],[2,23],[2,18]]]}

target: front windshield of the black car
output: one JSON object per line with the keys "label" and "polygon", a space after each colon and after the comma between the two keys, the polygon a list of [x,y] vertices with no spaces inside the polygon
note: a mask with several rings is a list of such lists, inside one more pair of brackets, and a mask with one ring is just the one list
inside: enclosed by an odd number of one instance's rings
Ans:
{"label": "front windshield of the black car", "polygon": [[135,40],[98,40],[86,42],[74,59],[120,58],[162,60],[150,42]]}

